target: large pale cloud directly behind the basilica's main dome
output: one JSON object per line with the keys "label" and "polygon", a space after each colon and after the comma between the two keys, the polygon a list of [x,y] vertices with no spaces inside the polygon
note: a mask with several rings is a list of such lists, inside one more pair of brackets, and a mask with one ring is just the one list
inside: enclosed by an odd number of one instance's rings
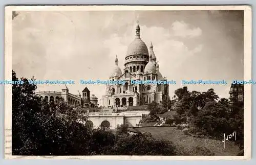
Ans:
{"label": "large pale cloud directly behind the basilica's main dome", "polygon": [[[135,27],[135,25],[134,25]],[[175,40],[170,29],[162,27],[147,27],[140,25],[140,37],[149,48],[152,41],[154,52],[159,63],[159,70],[163,76],[167,78],[180,78],[177,69],[189,68],[190,66],[182,66],[183,61],[193,57],[202,51],[203,45],[198,44],[192,49],[188,49],[187,45],[182,40]],[[124,68],[124,57],[126,55],[129,44],[135,38],[135,28],[127,29],[124,34],[112,34],[109,38],[104,40],[103,46],[109,50],[109,55],[113,61],[111,65],[114,66],[114,59],[117,55],[118,65],[121,69]]]}

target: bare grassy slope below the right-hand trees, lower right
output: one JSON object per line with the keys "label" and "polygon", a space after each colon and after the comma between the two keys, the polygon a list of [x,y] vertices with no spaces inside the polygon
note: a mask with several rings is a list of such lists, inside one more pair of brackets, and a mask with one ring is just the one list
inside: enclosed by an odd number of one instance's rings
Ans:
{"label": "bare grassy slope below the right-hand trees, lower right", "polygon": [[231,156],[239,153],[238,146],[233,142],[225,142],[225,149],[223,148],[222,139],[208,139],[198,138],[188,135],[184,135],[181,130],[177,130],[174,127],[151,127],[151,128],[137,128],[142,132],[150,132],[154,137],[160,139],[167,139],[172,141],[184,155],[199,155],[196,153],[196,147],[205,147],[211,152],[215,153],[215,156]]}

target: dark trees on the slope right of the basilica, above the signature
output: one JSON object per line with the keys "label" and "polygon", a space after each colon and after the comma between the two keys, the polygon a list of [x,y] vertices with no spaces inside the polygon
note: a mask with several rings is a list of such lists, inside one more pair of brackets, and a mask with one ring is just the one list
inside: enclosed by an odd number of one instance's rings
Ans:
{"label": "dark trees on the slope right of the basilica, above the signature", "polygon": [[190,92],[187,87],[183,87],[177,89],[175,95],[177,98],[173,101],[176,102],[174,110],[177,111],[177,116],[174,116],[174,119],[167,119],[167,124],[187,122],[195,127],[194,133],[199,131],[218,139],[223,138],[224,133],[236,131],[236,143],[243,149],[244,110],[242,103],[230,105],[228,99],[225,98],[218,101],[219,97],[212,88],[204,92]]}

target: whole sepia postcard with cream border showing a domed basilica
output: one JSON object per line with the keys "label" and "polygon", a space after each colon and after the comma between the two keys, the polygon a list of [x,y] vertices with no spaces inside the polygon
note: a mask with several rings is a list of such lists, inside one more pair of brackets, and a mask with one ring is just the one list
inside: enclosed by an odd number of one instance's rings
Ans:
{"label": "whole sepia postcard with cream border showing a domed basilica", "polygon": [[5,158],[251,158],[250,6],[7,6]]}

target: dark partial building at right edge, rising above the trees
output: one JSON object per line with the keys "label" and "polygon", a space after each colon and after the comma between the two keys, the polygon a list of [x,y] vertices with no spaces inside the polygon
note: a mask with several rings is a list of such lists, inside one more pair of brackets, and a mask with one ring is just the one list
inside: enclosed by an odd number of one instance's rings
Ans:
{"label": "dark partial building at right edge, rising above the trees", "polygon": [[230,104],[244,102],[244,84],[231,84],[229,91],[229,102]]}

